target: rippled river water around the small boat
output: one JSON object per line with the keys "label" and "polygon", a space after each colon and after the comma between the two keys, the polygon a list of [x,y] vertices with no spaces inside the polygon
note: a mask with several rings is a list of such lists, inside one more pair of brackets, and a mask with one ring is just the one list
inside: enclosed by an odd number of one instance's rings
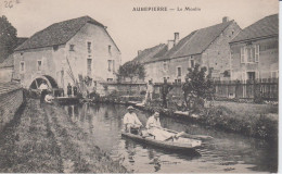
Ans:
{"label": "rippled river water around the small boat", "polygon": [[[214,137],[197,149],[201,157],[174,153],[121,138],[125,105],[85,103],[65,105],[64,109],[74,123],[94,137],[93,146],[107,151],[130,172],[247,173],[277,172],[278,169],[277,144],[161,115],[163,127]],[[145,125],[150,114],[139,110],[136,113]]]}

